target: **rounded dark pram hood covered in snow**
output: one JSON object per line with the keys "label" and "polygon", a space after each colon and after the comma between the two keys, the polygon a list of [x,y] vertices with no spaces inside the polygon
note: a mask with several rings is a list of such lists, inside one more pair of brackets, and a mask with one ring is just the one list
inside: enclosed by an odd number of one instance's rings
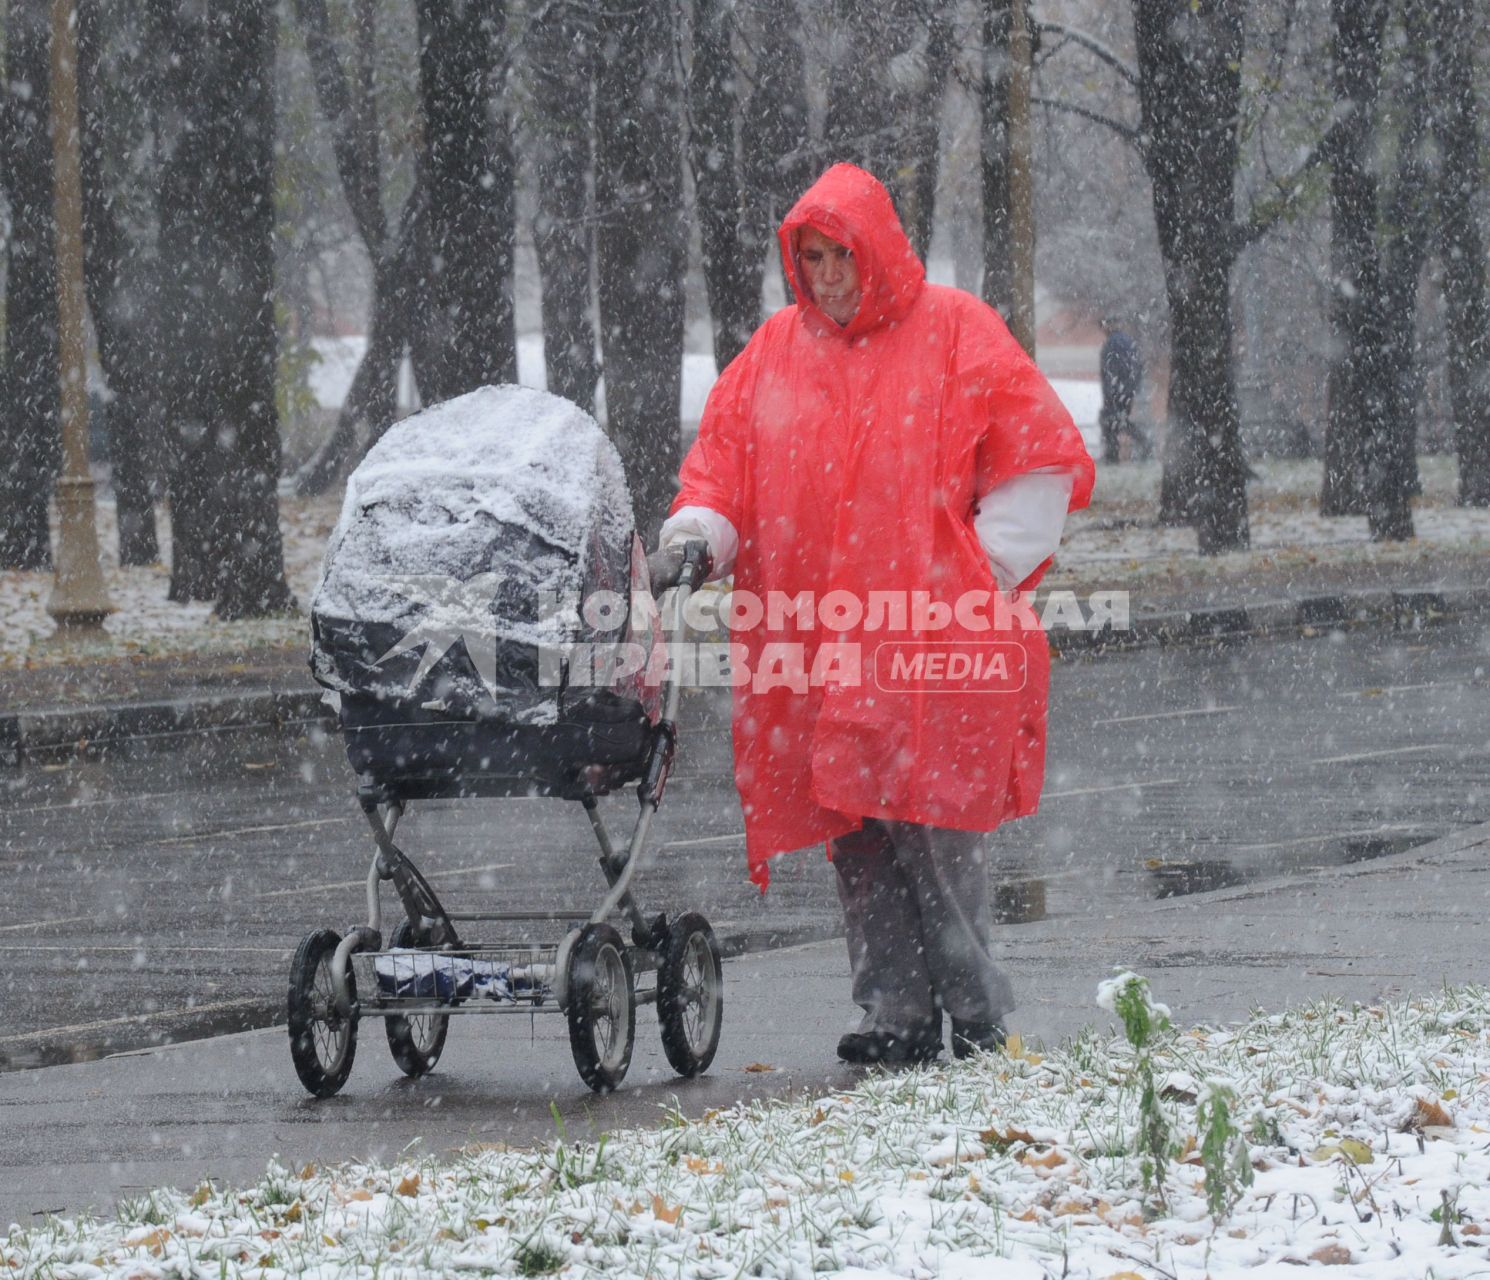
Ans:
{"label": "rounded dark pram hood covered in snow", "polygon": [[620,456],[578,405],[522,386],[432,405],[347,481],[311,605],[311,672],[343,696],[519,724],[603,709],[606,693],[642,699],[636,681],[571,690],[559,662],[577,642],[638,639],[597,632],[581,609],[595,592],[645,590],[633,530]]}

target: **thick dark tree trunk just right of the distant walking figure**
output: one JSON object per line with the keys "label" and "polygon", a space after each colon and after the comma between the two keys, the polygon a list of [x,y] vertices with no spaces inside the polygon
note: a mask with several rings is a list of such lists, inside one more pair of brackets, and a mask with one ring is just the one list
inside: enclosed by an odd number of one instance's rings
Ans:
{"label": "thick dark tree trunk just right of the distant walking figure", "polygon": [[1173,334],[1159,519],[1193,525],[1205,554],[1250,541],[1231,319],[1243,9],[1132,0]]}

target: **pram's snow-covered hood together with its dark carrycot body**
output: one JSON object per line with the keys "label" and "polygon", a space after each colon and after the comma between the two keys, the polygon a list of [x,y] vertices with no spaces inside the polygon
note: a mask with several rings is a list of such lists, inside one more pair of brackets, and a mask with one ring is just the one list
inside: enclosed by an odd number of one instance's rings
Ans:
{"label": "pram's snow-covered hood together with its dark carrycot body", "polygon": [[[353,767],[402,794],[459,794],[480,773],[551,782],[587,754],[645,750],[659,696],[635,654],[660,635],[636,599],[615,447],[566,399],[481,387],[393,426],[347,481],[311,672],[341,697]],[[535,747],[553,758],[529,767]]]}

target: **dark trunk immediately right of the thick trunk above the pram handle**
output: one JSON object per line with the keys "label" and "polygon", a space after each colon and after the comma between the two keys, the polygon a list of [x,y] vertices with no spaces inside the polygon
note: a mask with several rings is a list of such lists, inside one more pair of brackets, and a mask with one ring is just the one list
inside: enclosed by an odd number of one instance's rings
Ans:
{"label": "dark trunk immediately right of the thick trunk above the pram handle", "polygon": [[723,370],[760,323],[763,256],[745,228],[735,133],[739,103],[732,51],[733,6],[694,0],[688,79],[693,189],[703,244],[703,282],[714,322],[714,362]]}

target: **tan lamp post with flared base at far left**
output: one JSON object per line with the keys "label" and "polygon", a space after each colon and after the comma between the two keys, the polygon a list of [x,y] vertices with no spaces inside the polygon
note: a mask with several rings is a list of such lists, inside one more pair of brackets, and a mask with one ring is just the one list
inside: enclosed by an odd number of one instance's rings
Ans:
{"label": "tan lamp post with flared base at far left", "polygon": [[46,611],[60,632],[101,633],[113,612],[98,566],[94,483],[88,471],[83,376],[83,198],[73,0],[52,0],[52,164],[57,222],[57,322],[63,390],[63,474],[57,481],[57,575]]}

